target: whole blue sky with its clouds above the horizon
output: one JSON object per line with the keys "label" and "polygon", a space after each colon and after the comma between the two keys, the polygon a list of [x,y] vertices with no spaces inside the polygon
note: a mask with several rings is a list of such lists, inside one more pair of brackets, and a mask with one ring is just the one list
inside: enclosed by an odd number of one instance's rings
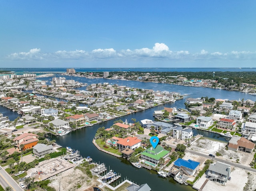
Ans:
{"label": "whole blue sky with its clouds above the horizon", "polygon": [[255,0],[0,0],[1,67],[255,67]]}

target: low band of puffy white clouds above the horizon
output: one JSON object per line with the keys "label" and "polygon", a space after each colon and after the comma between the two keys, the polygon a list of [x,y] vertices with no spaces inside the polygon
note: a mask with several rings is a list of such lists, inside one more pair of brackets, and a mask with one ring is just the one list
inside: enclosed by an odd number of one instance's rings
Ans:
{"label": "low band of puffy white clouds above the horizon", "polygon": [[210,59],[237,59],[237,60],[252,60],[256,59],[256,52],[251,51],[231,51],[231,52],[213,52],[202,49],[198,53],[190,53],[186,50],[172,51],[164,43],[155,43],[152,48],[141,49],[126,49],[115,50],[94,49],[92,51],[74,50],[65,51],[59,50],[53,53],[42,53],[40,48],[30,49],[28,52],[12,53],[7,56],[10,60],[94,60],[94,59],[123,59],[123,60],[210,60]]}

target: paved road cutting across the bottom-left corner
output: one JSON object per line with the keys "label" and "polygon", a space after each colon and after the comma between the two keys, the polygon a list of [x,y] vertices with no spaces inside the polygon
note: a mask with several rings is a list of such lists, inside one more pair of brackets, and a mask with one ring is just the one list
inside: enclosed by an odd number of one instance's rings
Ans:
{"label": "paved road cutting across the bottom-left corner", "polygon": [[20,185],[4,169],[0,169],[0,184],[3,188],[10,186],[13,191],[23,191]]}

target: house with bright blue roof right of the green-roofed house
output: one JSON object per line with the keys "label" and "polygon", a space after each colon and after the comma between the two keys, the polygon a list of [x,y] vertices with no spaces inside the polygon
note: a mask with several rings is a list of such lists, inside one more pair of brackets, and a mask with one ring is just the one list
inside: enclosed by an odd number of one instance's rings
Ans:
{"label": "house with bright blue roof right of the green-roofed house", "polygon": [[196,170],[198,170],[199,165],[200,162],[178,158],[174,161],[173,167],[179,169],[179,171],[183,171],[186,175],[193,176],[196,173]]}

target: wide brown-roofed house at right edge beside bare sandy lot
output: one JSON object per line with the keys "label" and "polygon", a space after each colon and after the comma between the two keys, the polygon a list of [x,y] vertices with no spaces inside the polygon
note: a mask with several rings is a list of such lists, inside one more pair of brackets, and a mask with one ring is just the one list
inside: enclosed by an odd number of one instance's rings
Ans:
{"label": "wide brown-roofed house at right edge beside bare sandy lot", "polygon": [[252,154],[255,144],[244,137],[233,136],[228,142],[228,149],[232,151],[243,151]]}

